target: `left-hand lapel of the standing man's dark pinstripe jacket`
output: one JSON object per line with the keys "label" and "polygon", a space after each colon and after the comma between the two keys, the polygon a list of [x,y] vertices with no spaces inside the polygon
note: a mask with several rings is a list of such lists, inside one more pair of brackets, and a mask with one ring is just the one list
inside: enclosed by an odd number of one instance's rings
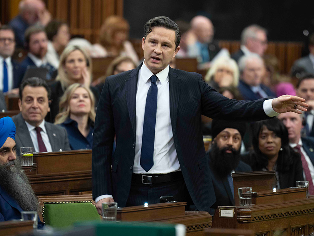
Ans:
{"label": "left-hand lapel of the standing man's dark pinstripe jacket", "polygon": [[132,125],[134,137],[136,134],[136,88],[138,81],[138,71],[143,63],[130,73],[130,77],[125,80],[125,96],[127,99],[127,110]]}

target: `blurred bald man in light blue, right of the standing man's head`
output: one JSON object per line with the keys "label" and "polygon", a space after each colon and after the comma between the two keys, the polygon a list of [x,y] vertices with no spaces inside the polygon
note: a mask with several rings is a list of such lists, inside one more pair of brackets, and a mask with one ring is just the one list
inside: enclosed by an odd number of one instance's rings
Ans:
{"label": "blurred bald man in light blue, right of the standing man's head", "polygon": [[220,51],[214,44],[214,25],[206,16],[197,15],[191,20],[187,36],[187,56],[196,57],[201,64],[211,61]]}

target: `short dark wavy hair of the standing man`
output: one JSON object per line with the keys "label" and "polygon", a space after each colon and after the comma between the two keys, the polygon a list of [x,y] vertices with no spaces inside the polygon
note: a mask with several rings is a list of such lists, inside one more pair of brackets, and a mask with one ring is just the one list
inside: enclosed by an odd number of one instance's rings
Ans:
{"label": "short dark wavy hair of the standing man", "polygon": [[175,31],[176,33],[175,43],[177,48],[181,40],[179,26],[167,16],[157,16],[152,19],[149,19],[149,21],[147,21],[144,25],[144,38],[146,39],[147,35],[152,31],[152,29],[158,26],[165,27],[166,29]]}

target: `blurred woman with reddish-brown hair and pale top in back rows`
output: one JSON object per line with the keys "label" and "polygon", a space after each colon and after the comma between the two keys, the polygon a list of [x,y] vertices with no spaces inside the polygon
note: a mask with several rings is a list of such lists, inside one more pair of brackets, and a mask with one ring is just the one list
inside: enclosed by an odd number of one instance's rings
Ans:
{"label": "blurred woman with reddish-brown hair and pale top in back rows", "polygon": [[100,28],[99,43],[94,44],[97,57],[128,56],[137,64],[138,55],[132,43],[127,41],[129,30],[129,23],[121,16],[107,17]]}

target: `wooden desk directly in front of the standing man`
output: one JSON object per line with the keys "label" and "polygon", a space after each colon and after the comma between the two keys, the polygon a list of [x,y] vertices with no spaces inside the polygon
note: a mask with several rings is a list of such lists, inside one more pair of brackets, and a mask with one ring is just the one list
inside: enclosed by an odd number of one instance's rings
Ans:
{"label": "wooden desk directly in front of the standing man", "polygon": [[117,220],[184,224],[189,236],[203,235],[211,227],[212,216],[204,211],[184,211],[186,202],[159,203],[123,207],[117,210]]}

